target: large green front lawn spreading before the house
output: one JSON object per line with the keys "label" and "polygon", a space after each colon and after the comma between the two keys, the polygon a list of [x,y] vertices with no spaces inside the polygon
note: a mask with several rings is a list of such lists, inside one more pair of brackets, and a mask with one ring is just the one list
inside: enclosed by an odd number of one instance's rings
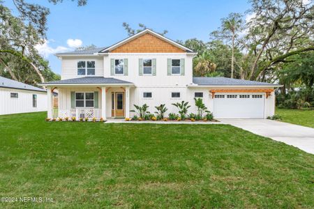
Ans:
{"label": "large green front lawn spreading before the house", "polygon": [[231,125],[0,116],[0,196],[55,208],[314,208],[314,155]]}

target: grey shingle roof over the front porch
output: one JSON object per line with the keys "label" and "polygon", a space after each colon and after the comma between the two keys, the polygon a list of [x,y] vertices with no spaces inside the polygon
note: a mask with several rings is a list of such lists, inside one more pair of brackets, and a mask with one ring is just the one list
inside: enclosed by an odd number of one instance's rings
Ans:
{"label": "grey shingle roof over the front porch", "polygon": [[112,77],[79,77],[74,79],[64,79],[43,84],[133,84]]}

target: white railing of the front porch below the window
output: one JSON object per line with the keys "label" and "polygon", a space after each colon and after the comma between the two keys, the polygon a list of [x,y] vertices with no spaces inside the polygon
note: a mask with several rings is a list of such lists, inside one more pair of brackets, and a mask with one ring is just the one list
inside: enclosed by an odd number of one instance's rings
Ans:
{"label": "white railing of the front porch below the window", "polygon": [[101,118],[101,109],[52,109],[52,118],[73,118],[80,120],[80,118]]}

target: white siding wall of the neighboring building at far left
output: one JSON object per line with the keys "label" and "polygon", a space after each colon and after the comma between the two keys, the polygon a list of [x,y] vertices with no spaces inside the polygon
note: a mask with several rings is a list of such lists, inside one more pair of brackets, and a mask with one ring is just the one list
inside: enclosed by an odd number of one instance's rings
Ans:
{"label": "white siding wall of the neighboring building at far left", "polygon": [[[10,93],[18,93],[18,98],[10,98]],[[33,107],[33,94],[37,95],[37,107]],[[0,115],[47,110],[47,93],[0,88]]]}

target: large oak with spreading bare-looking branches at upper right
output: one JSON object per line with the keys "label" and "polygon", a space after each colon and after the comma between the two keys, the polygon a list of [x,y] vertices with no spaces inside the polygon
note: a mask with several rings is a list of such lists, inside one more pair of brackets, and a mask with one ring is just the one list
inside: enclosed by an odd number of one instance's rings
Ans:
{"label": "large oak with spreading bare-looking branches at upper right", "polygon": [[314,50],[313,6],[301,0],[251,1],[246,50],[253,56],[249,79],[263,79],[289,56]]}

